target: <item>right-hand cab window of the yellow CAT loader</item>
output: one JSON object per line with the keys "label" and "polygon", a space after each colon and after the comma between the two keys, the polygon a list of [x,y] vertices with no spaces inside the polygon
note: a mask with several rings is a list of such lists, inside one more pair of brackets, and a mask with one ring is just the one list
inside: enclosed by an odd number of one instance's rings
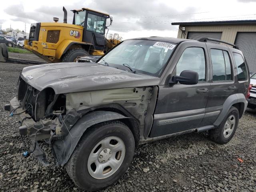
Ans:
{"label": "right-hand cab window of the yellow CAT loader", "polygon": [[105,34],[106,18],[88,13],[86,30]]}

